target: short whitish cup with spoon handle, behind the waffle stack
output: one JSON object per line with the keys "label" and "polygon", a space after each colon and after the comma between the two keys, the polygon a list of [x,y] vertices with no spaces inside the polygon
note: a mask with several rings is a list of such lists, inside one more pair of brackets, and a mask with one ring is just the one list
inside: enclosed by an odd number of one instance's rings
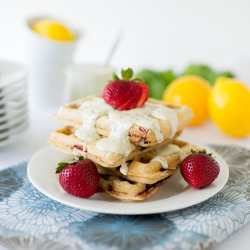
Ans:
{"label": "short whitish cup with spoon handle, behind the waffle stack", "polygon": [[105,65],[71,65],[66,71],[64,103],[89,95],[100,95],[106,84],[112,80],[114,69]]}

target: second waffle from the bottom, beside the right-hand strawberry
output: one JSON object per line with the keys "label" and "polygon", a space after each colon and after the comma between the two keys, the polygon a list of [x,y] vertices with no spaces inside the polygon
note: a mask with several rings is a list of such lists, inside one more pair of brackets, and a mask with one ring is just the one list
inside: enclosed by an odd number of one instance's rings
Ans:
{"label": "second waffle from the bottom, beside the right-hand strawberry", "polygon": [[[178,146],[185,155],[189,155],[191,149],[195,151],[200,150],[197,146],[184,141],[174,140],[171,143]],[[168,169],[164,169],[160,162],[150,162],[155,156],[157,156],[157,153],[153,150],[141,154],[140,156],[136,156],[133,161],[127,162],[128,172],[126,176],[119,171],[119,167],[104,168],[98,165],[97,168],[98,172],[103,175],[117,176],[142,184],[154,184],[171,176],[181,162],[180,154],[178,152],[166,154],[163,158],[168,163]]]}

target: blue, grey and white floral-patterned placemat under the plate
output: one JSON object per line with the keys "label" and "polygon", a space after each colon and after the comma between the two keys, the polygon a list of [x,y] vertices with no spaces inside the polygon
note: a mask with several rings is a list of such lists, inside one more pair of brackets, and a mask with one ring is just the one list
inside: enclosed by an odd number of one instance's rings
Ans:
{"label": "blue, grey and white floral-patterned placemat under the plate", "polygon": [[204,249],[250,221],[250,151],[213,146],[230,167],[221,192],[183,210],[108,215],[49,199],[29,182],[27,163],[0,171],[0,244],[7,249]]}

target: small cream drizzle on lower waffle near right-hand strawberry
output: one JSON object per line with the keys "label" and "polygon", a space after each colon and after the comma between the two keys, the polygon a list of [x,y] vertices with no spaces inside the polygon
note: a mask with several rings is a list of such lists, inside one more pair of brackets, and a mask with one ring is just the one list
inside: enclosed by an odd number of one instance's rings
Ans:
{"label": "small cream drizzle on lower waffle near right-hand strawberry", "polygon": [[163,169],[168,169],[168,163],[163,156],[167,156],[173,153],[179,153],[179,159],[182,161],[187,155],[177,146],[174,144],[167,144],[161,148],[155,149],[151,151],[156,156],[150,162],[160,162]]}

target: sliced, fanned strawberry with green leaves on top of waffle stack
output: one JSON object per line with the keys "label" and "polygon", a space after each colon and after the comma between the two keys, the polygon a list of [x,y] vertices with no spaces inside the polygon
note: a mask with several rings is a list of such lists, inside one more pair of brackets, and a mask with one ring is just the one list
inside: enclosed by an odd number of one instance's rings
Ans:
{"label": "sliced, fanned strawberry with green leaves on top of waffle stack", "polygon": [[141,107],[148,99],[149,88],[139,79],[132,79],[133,70],[122,70],[122,79],[114,74],[114,80],[109,82],[103,90],[104,101],[113,108],[129,110]]}

